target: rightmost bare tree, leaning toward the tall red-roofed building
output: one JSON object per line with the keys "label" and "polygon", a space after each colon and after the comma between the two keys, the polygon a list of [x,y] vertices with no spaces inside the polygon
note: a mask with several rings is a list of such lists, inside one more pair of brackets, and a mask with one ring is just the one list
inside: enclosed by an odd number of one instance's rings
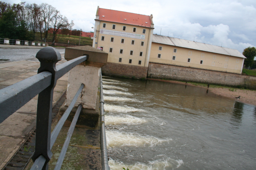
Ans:
{"label": "rightmost bare tree, leaning toward the tall red-roofed building", "polygon": [[55,41],[55,36],[57,34],[57,32],[59,31],[59,29],[71,29],[73,27],[74,23],[71,20],[71,22],[69,23],[69,20],[65,17],[60,15],[60,13],[58,12],[54,17],[53,17],[53,43]]}

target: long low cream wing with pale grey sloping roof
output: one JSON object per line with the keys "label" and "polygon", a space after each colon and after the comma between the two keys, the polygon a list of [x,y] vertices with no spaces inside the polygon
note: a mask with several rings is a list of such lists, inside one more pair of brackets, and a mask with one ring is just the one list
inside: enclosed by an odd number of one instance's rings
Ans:
{"label": "long low cream wing with pale grey sloping roof", "polygon": [[236,49],[154,34],[150,62],[242,73],[244,55]]}

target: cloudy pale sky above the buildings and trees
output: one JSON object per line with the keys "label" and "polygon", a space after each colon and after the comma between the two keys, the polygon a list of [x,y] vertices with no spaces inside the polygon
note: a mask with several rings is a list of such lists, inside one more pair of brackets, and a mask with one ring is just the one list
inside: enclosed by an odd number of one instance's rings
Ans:
{"label": "cloudy pale sky above the buildings and trees", "polygon": [[[242,51],[256,47],[256,0],[2,0],[47,3],[57,8],[73,29],[93,31],[100,8],[153,15],[154,34]],[[161,30],[162,29],[162,30]]]}

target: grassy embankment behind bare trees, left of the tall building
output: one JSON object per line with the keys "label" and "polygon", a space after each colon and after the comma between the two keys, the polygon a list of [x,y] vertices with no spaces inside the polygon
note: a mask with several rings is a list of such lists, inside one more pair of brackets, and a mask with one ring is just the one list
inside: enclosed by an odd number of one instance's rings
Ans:
{"label": "grassy embankment behind bare trees, left of the tall building", "polygon": [[[43,35],[44,37],[44,35]],[[41,40],[40,33],[37,32],[35,36],[35,41]],[[52,42],[53,40],[53,34],[48,34],[48,37],[46,39],[47,42]],[[57,43],[67,43],[69,40],[69,44],[79,44],[79,36],[68,36],[68,35],[62,35],[62,34],[57,34],[55,38],[55,42]],[[81,37],[80,40],[80,45],[90,45],[92,46],[92,39],[90,37]]]}

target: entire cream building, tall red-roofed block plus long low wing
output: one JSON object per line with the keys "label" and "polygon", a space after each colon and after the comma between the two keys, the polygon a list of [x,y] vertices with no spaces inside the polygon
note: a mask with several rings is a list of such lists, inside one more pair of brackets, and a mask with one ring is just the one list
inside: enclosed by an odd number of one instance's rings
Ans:
{"label": "entire cream building, tall red-roofed block plus long low wing", "polygon": [[93,47],[108,53],[102,73],[147,77],[149,62],[242,73],[246,57],[238,50],[153,34],[152,18],[98,6]]}

